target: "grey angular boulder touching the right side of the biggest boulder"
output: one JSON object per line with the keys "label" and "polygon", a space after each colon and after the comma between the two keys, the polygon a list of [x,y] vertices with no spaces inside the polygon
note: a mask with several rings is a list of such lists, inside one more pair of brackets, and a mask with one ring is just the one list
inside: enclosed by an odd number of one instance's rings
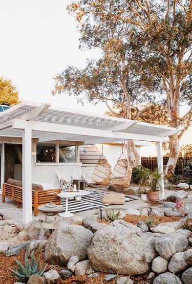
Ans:
{"label": "grey angular boulder touching the right side of the biggest boulder", "polygon": [[155,249],[163,258],[170,260],[172,256],[176,253],[175,245],[173,244],[173,239],[170,237],[160,237],[155,241]]}

